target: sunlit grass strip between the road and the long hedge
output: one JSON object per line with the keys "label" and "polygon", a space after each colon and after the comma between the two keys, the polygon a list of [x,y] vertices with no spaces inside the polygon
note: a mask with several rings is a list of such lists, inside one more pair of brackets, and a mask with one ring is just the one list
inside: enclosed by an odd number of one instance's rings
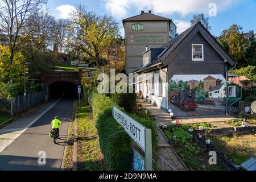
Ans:
{"label": "sunlit grass strip between the road and the long hedge", "polygon": [[77,169],[105,170],[92,109],[83,102],[77,106],[77,140]]}

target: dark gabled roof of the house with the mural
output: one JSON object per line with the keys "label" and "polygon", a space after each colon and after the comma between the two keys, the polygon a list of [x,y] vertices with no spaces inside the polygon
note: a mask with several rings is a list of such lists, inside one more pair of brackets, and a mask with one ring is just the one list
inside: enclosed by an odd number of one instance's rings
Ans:
{"label": "dark gabled roof of the house with the mural", "polygon": [[176,38],[170,40],[170,42],[164,44],[161,48],[164,48],[164,50],[156,57],[155,60],[151,61],[151,63],[147,64],[146,66],[142,68],[136,69],[134,72],[142,72],[146,71],[148,68],[154,67],[154,65],[159,65],[162,64],[162,67],[166,67],[168,64],[168,60],[166,60],[166,57],[170,55],[177,46],[189,34],[192,32],[200,32],[200,34],[210,43],[210,45],[218,52],[218,54],[230,65],[234,65],[234,60],[232,57],[229,55],[228,52],[226,52],[220,45],[220,43],[217,42],[217,40],[210,34],[210,32],[201,24],[201,22],[198,22],[197,24],[194,24],[192,27],[188,28],[184,32],[182,32],[179,36]]}

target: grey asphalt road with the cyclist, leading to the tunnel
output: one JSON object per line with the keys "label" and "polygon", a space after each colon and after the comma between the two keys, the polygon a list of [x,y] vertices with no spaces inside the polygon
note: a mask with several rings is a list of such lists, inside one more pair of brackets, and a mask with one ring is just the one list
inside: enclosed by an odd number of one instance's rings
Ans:
{"label": "grey asphalt road with the cyclist, leading to the tunnel", "polygon": [[[57,102],[0,153],[0,170],[60,170],[72,108],[73,100]],[[56,144],[48,134],[55,115],[63,122],[60,126],[60,139],[57,139]],[[42,158],[44,154],[46,164]]]}

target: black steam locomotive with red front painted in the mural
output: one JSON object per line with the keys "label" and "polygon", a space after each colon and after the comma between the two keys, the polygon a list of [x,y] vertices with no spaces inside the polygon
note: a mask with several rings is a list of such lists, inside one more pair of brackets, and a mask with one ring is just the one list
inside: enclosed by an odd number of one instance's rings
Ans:
{"label": "black steam locomotive with red front painted in the mural", "polygon": [[195,101],[195,91],[185,88],[183,91],[174,91],[171,102],[185,111],[195,110],[197,105]]}

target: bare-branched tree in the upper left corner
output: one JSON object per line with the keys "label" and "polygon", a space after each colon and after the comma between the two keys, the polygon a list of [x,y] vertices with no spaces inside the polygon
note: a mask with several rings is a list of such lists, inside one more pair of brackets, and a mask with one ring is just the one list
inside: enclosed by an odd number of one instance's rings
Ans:
{"label": "bare-branched tree in the upper left corner", "polygon": [[24,41],[35,31],[36,26],[29,30],[28,22],[39,12],[46,0],[1,0],[0,2],[0,33],[7,36],[10,49],[9,65],[13,63],[16,51],[22,49]]}

